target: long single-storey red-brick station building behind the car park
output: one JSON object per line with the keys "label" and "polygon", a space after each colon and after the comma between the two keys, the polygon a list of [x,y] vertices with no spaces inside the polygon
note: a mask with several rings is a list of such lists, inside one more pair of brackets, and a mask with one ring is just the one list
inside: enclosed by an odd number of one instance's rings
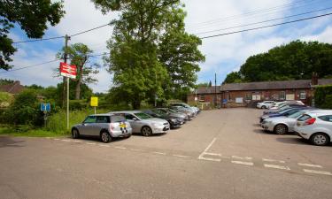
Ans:
{"label": "long single-storey red-brick station building behind the car park", "polygon": [[197,92],[189,94],[188,103],[195,103],[197,96],[198,103],[214,104],[217,96],[217,105],[223,107],[247,106],[262,100],[300,100],[305,104],[311,104],[314,88],[320,85],[332,85],[332,79],[318,80],[281,80],[262,81],[251,83],[230,83],[217,87],[215,94],[214,87],[197,88]]}

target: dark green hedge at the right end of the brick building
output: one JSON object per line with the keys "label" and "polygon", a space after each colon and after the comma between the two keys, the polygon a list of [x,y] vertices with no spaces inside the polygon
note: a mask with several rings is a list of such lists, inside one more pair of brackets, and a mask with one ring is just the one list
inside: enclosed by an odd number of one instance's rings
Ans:
{"label": "dark green hedge at the right end of the brick building", "polygon": [[332,109],[332,85],[315,88],[314,102],[318,108]]}

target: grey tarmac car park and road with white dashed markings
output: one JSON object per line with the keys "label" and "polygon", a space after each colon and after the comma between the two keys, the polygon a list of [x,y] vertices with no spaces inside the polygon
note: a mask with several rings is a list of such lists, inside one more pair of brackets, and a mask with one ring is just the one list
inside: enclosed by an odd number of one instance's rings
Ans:
{"label": "grey tarmac car park and road with white dashed markings", "polygon": [[332,146],[269,134],[261,110],[203,111],[102,143],[0,137],[2,198],[330,198]]}

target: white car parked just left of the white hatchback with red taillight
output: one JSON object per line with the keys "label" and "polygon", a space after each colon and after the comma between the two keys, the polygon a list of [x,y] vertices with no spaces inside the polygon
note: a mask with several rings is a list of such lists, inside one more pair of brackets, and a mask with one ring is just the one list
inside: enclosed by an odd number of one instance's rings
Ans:
{"label": "white car parked just left of the white hatchback with red taillight", "polygon": [[289,132],[294,132],[294,126],[297,124],[297,119],[309,111],[313,110],[302,110],[289,116],[265,119],[261,123],[261,127],[266,131],[274,132],[274,134],[287,134]]}

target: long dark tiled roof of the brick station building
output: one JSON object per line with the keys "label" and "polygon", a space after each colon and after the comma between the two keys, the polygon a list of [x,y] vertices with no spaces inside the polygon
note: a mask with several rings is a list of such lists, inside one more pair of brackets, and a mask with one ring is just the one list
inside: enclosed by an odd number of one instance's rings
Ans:
{"label": "long dark tiled roof of the brick station building", "polygon": [[[222,85],[220,91],[313,88],[311,82],[312,80],[277,80],[250,83],[231,83]],[[318,80],[317,86],[328,84],[332,84],[332,79]]]}

